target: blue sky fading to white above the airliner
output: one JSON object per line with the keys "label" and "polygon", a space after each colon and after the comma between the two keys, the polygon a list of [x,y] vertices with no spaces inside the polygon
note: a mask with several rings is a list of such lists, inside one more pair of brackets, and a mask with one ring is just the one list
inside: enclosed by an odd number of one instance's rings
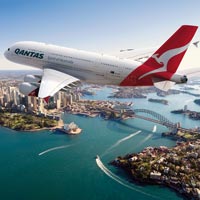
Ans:
{"label": "blue sky fading to white above the airliner", "polygon": [[0,0],[0,69],[27,69],[3,56],[23,40],[111,55],[158,46],[183,24],[199,26],[199,11],[199,0]]}

